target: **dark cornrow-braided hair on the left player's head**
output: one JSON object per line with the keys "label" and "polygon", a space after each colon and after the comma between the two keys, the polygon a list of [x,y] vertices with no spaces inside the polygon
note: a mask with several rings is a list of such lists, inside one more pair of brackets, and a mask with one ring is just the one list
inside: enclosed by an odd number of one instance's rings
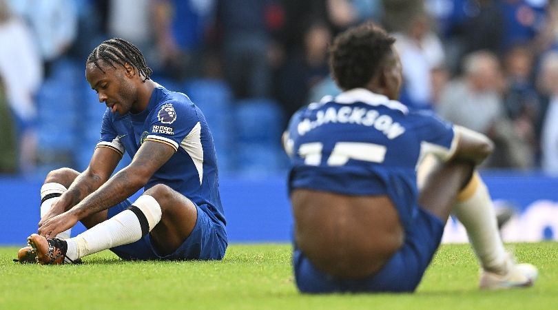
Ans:
{"label": "dark cornrow-braided hair on the left player's head", "polygon": [[105,61],[112,65],[112,68],[116,69],[116,65],[121,65],[124,67],[125,63],[130,64],[134,69],[138,70],[140,74],[145,76],[143,81],[149,80],[149,76],[153,73],[153,70],[147,66],[143,54],[141,53],[136,45],[124,40],[113,38],[107,41],[103,41],[99,46],[97,46],[91,54],[87,57],[87,63],[94,63],[96,68],[106,73],[99,65],[99,60]]}

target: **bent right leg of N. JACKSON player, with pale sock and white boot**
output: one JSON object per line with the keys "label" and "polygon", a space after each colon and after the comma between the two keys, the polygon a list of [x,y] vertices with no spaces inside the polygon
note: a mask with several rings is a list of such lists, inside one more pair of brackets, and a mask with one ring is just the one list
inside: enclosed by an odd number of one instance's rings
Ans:
{"label": "bent right leg of N. JACKSON player, with pale sock and white boot", "polygon": [[[473,171],[473,166],[468,170],[468,177],[461,179],[466,181],[459,187],[459,194],[455,195],[462,172],[452,168],[452,164],[440,167],[435,162],[433,158],[426,158],[419,169],[419,184],[424,183],[420,203],[444,221],[450,211],[455,212],[457,219],[465,226],[471,245],[484,268],[480,287],[509,289],[533,285],[538,274],[537,268],[530,264],[516,264],[504,251],[490,195],[478,174]],[[432,167],[435,167],[433,172],[428,174]],[[453,198],[450,197],[451,192]]]}

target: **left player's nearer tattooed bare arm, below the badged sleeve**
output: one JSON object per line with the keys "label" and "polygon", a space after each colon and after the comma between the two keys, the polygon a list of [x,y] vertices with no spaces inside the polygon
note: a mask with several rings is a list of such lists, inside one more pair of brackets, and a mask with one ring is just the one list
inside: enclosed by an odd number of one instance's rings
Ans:
{"label": "left player's nearer tattooed bare arm, below the badged sleeve", "polygon": [[174,152],[173,147],[164,143],[145,141],[129,166],[107,180],[72,209],[43,222],[39,227],[39,234],[47,238],[56,236],[59,232],[75,225],[78,220],[125,200],[141,189]]}

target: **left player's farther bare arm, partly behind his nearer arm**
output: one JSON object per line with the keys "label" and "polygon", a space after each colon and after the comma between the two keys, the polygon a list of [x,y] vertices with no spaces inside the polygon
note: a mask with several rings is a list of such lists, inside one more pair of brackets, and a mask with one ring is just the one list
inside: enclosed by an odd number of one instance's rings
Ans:
{"label": "left player's farther bare arm, partly behind his nearer arm", "polygon": [[41,227],[46,220],[72,209],[72,207],[77,205],[83,198],[101,187],[101,185],[110,178],[110,175],[114,172],[121,158],[121,154],[114,152],[112,149],[97,147],[93,153],[89,167],[79,174],[68,188],[68,191],[62,194],[62,196],[52,204],[50,211],[39,221],[39,227]]}

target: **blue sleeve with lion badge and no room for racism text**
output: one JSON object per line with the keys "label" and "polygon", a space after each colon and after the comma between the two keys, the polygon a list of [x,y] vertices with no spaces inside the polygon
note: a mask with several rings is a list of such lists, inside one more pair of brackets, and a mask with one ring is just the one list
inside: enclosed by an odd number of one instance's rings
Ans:
{"label": "blue sleeve with lion badge and no room for racism text", "polygon": [[201,125],[194,105],[168,101],[157,107],[149,120],[145,141],[165,143],[174,148],[188,141],[187,136],[200,136]]}

